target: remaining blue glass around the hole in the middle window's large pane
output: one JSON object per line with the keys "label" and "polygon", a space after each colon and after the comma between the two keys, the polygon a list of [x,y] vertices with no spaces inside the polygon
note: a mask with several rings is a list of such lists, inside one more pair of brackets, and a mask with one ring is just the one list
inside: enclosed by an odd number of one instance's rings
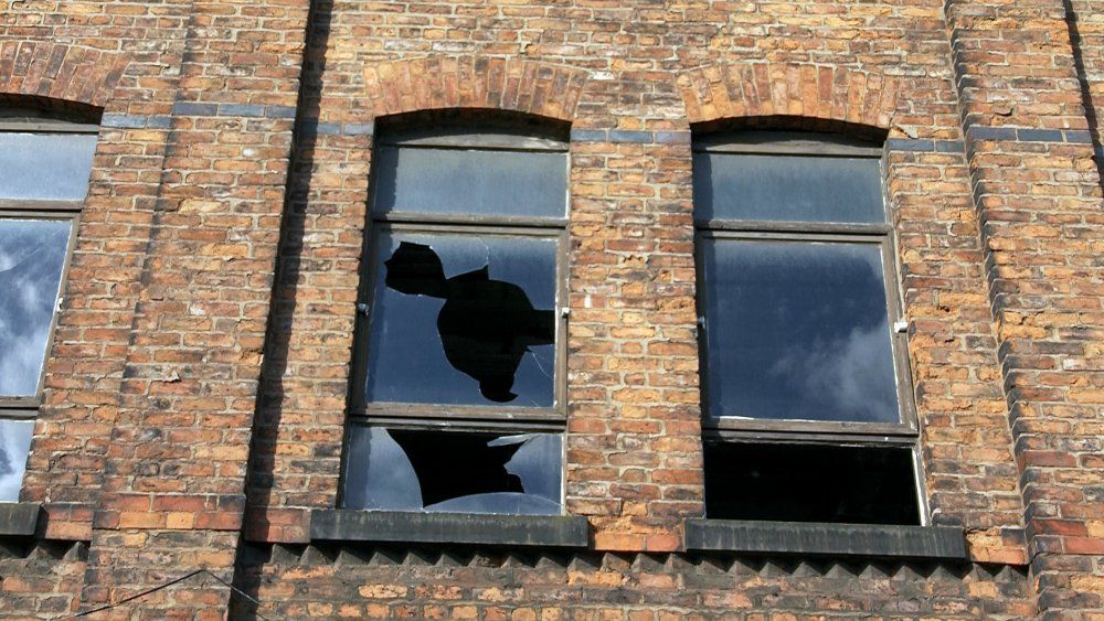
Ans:
{"label": "remaining blue glass around the hole in the middle window's large pane", "polygon": [[[535,237],[399,233],[382,234],[378,239],[365,400],[442,405],[501,403],[488,399],[480,390],[480,382],[454,366],[446,355],[438,320],[442,313],[450,313],[446,307],[449,301],[388,287],[384,261],[394,255],[402,242],[428,246],[439,257],[447,279],[486,267],[487,279],[520,288],[535,311],[554,311],[556,242]],[[499,287],[492,293],[500,295],[502,290]],[[471,322],[475,335],[463,350],[482,350],[488,342],[480,340],[479,334],[509,328],[513,315],[497,315],[493,300],[488,300],[487,304],[488,312],[465,318]],[[552,330],[555,330],[554,322]],[[517,346],[517,343],[497,345],[498,349],[503,346]],[[554,373],[555,346],[528,346],[520,356],[509,388],[516,398],[503,405],[551,407]]]}

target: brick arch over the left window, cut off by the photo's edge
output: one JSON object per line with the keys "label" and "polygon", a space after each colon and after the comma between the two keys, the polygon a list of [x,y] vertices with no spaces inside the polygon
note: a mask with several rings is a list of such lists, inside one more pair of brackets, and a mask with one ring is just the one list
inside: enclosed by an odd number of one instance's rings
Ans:
{"label": "brick arch over the left window, cut off by the photo's edge", "polygon": [[104,108],[129,62],[123,54],[59,43],[4,43],[0,46],[0,99]]}

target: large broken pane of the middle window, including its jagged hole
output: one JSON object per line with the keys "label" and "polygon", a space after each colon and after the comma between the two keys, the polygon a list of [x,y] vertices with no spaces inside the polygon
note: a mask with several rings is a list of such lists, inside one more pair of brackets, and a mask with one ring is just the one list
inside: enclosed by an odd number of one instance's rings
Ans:
{"label": "large broken pane of the middle window, including its jagged hole", "polygon": [[365,400],[551,407],[549,238],[379,237]]}

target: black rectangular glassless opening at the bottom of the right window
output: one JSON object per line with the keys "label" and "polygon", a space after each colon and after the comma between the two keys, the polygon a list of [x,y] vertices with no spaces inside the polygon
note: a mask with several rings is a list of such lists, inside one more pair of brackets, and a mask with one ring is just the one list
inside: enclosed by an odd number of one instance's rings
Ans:
{"label": "black rectangular glassless opening at the bottom of the right window", "polygon": [[704,450],[709,517],[920,524],[910,449],[708,441]]}

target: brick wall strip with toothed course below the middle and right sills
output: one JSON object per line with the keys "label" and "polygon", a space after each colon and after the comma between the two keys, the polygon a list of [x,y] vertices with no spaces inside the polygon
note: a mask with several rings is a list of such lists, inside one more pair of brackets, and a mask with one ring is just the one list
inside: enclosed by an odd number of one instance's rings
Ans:
{"label": "brick wall strip with toothed course below the middle and right sills", "polygon": [[237,614],[276,619],[1010,619],[1033,612],[1007,566],[669,554],[248,548]]}

